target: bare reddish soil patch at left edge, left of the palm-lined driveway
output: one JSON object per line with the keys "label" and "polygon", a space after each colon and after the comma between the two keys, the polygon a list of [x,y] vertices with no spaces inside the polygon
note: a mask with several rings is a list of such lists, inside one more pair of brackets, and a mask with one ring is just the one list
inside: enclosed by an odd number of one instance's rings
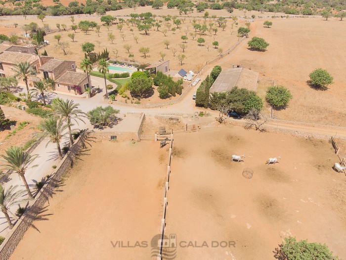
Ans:
{"label": "bare reddish soil patch at left edge, left of the palm-lined driveway", "polygon": [[25,126],[22,130],[16,132],[15,135],[11,135],[6,138],[11,130],[0,131],[0,154],[10,146],[23,146],[27,141],[32,139],[34,135],[38,132],[37,126],[42,120],[41,117],[28,114],[26,111],[19,110],[12,106],[1,105],[5,117],[9,120],[15,121],[15,128],[17,129],[19,123],[27,121],[29,124]]}

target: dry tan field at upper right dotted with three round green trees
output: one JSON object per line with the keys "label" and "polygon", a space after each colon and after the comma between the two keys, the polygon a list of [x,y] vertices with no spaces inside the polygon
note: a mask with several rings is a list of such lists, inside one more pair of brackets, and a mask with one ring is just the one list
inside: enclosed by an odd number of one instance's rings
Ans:
{"label": "dry tan field at upper right dotted with three round green trees", "polygon": [[[275,111],[279,119],[343,126],[346,46],[340,35],[346,33],[345,24],[319,18],[273,20],[272,28],[264,28],[262,23],[257,20],[251,25],[250,37],[263,37],[270,44],[267,51],[252,52],[246,41],[219,64],[228,67],[236,63],[258,71],[263,97],[273,80],[289,88],[293,100],[287,109]],[[319,67],[334,77],[327,91],[312,89],[307,84],[309,73]]]}

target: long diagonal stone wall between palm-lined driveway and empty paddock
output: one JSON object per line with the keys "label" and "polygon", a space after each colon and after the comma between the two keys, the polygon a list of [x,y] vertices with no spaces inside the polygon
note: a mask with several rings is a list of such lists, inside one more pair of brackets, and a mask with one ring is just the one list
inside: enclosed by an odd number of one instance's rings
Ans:
{"label": "long diagonal stone wall between palm-lined driveway and empty paddock", "polygon": [[35,199],[30,201],[27,209],[21,218],[16,222],[10,233],[7,234],[5,240],[0,246],[0,260],[8,260],[20,240],[22,240],[25,232],[31,226],[32,222],[35,220],[37,215],[42,210],[46,201],[52,197],[54,193],[54,188],[59,183],[62,175],[65,171],[73,167],[74,158],[80,149],[84,146],[83,139],[79,137],[74,145],[71,147],[70,151],[64,156],[64,158],[57,165],[55,172],[46,181],[43,188],[36,195]]}

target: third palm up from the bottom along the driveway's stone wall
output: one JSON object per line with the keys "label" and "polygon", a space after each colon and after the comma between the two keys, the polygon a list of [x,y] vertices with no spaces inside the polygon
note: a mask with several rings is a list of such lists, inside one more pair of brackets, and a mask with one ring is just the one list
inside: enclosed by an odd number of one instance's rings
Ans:
{"label": "third palm up from the bottom along the driveway's stone wall", "polygon": [[64,132],[67,127],[68,125],[63,123],[62,118],[56,116],[50,116],[44,119],[39,125],[42,135],[49,137],[48,143],[56,143],[56,148],[58,149],[60,159],[62,159],[60,141],[64,137]]}

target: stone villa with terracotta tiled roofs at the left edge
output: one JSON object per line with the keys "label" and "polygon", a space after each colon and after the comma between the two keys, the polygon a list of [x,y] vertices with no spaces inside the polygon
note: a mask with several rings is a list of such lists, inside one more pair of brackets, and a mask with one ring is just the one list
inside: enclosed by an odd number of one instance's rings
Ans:
{"label": "stone villa with terracotta tiled roofs at the left edge", "polygon": [[[13,68],[19,62],[29,62],[38,72],[36,76],[29,78],[30,87],[33,87],[33,81],[49,78],[54,80],[57,93],[81,95],[89,88],[87,74],[76,71],[75,61],[32,54],[32,46],[0,44],[0,77],[13,76]],[[24,84],[23,79],[19,83]]]}

